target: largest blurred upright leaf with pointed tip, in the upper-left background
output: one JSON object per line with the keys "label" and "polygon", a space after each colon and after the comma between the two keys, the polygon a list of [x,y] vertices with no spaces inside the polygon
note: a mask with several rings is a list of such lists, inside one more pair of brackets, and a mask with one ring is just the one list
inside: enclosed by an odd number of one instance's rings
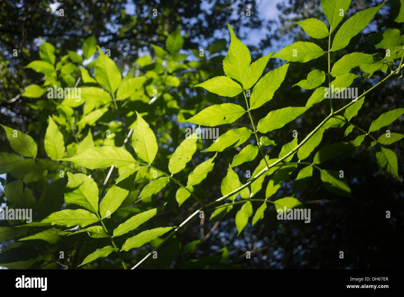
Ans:
{"label": "largest blurred upright leaf with pointed tip, in the upper-left background", "polygon": [[95,79],[106,91],[114,93],[121,84],[121,73],[114,61],[99,49],[99,57],[94,67]]}

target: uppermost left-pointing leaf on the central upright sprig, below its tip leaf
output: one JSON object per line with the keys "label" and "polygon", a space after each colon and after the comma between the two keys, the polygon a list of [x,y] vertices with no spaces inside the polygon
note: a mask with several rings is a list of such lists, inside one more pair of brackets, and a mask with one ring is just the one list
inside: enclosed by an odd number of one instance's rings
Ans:
{"label": "uppermost left-pointing leaf on the central upright sprig, below its tip leaf", "polygon": [[240,84],[227,76],[216,76],[195,86],[200,86],[209,92],[225,97],[234,97],[243,91]]}

